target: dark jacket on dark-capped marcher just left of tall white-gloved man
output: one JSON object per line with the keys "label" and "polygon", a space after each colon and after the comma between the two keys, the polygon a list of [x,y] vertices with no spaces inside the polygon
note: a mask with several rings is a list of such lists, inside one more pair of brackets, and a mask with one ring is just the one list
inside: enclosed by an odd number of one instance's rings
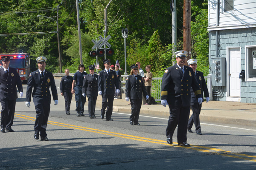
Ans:
{"label": "dark jacket on dark-capped marcher just left of tall white-gloved man", "polygon": [[98,75],[97,74],[93,74],[93,77],[91,74],[87,74],[84,76],[82,92],[83,94],[86,94],[86,95],[98,96]]}

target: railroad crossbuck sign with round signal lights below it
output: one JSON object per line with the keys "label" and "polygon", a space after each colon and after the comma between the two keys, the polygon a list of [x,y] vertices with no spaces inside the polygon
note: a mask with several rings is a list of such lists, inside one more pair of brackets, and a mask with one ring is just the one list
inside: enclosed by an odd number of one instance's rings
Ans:
{"label": "railroad crossbuck sign with round signal lights below it", "polygon": [[[90,57],[96,57],[98,55],[98,57],[103,57],[104,54],[105,54],[105,50],[106,50],[106,54],[108,56],[113,56],[114,54],[114,51],[112,48],[102,48],[103,45],[107,45],[108,47],[111,47],[111,44],[108,43],[108,40],[111,38],[110,35],[108,35],[108,37],[106,37],[105,39],[100,35],[99,36],[99,40],[96,41],[96,40],[92,40],[93,42],[93,51],[90,51],[89,52],[89,56]],[[99,48],[97,51],[95,51],[97,48]]]}

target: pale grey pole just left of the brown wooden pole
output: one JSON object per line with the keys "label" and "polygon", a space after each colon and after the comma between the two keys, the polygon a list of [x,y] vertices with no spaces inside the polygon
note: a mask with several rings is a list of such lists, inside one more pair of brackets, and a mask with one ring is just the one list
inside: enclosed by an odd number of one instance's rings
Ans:
{"label": "pale grey pole just left of the brown wooden pole", "polygon": [[[177,51],[177,10],[176,10],[176,0],[172,0],[172,57],[175,59],[174,54]],[[175,60],[173,60],[172,65],[175,65]]]}

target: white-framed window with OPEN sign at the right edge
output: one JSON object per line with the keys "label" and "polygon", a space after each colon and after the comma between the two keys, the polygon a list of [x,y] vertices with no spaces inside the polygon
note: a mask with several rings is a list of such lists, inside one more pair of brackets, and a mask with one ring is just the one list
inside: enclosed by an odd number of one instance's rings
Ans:
{"label": "white-framed window with OPEN sign at the right edge", "polygon": [[245,46],[245,80],[256,82],[256,45]]}

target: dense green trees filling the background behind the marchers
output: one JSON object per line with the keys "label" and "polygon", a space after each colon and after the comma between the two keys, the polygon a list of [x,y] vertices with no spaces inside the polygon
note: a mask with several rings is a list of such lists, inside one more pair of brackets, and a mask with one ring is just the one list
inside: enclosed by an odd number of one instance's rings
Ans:
{"label": "dense green trees filling the background behind the marchers", "polygon": [[[89,57],[93,43],[103,36],[104,8],[110,0],[79,1],[83,64],[96,64]],[[5,0],[0,1],[0,53],[26,52],[31,54],[31,71],[37,69],[34,60],[47,57],[47,69],[59,73],[57,34],[32,34],[56,31],[56,11],[59,6],[59,32],[61,37],[62,72],[77,70],[79,40],[77,31],[76,0]],[[192,58],[198,59],[198,70],[207,76],[208,62],[208,14],[207,0],[191,1]],[[51,17],[53,20],[42,15]],[[108,6],[108,42],[115,54],[112,64],[119,60],[125,71],[124,39],[122,28],[128,28],[127,71],[130,65],[141,62],[151,65],[154,77],[161,77],[165,68],[172,66],[172,12],[170,0],[112,0]],[[17,33],[29,33],[10,35]],[[177,50],[183,49],[183,0],[177,0]],[[99,58],[100,68],[103,68]],[[88,70],[88,69],[86,69]]]}

